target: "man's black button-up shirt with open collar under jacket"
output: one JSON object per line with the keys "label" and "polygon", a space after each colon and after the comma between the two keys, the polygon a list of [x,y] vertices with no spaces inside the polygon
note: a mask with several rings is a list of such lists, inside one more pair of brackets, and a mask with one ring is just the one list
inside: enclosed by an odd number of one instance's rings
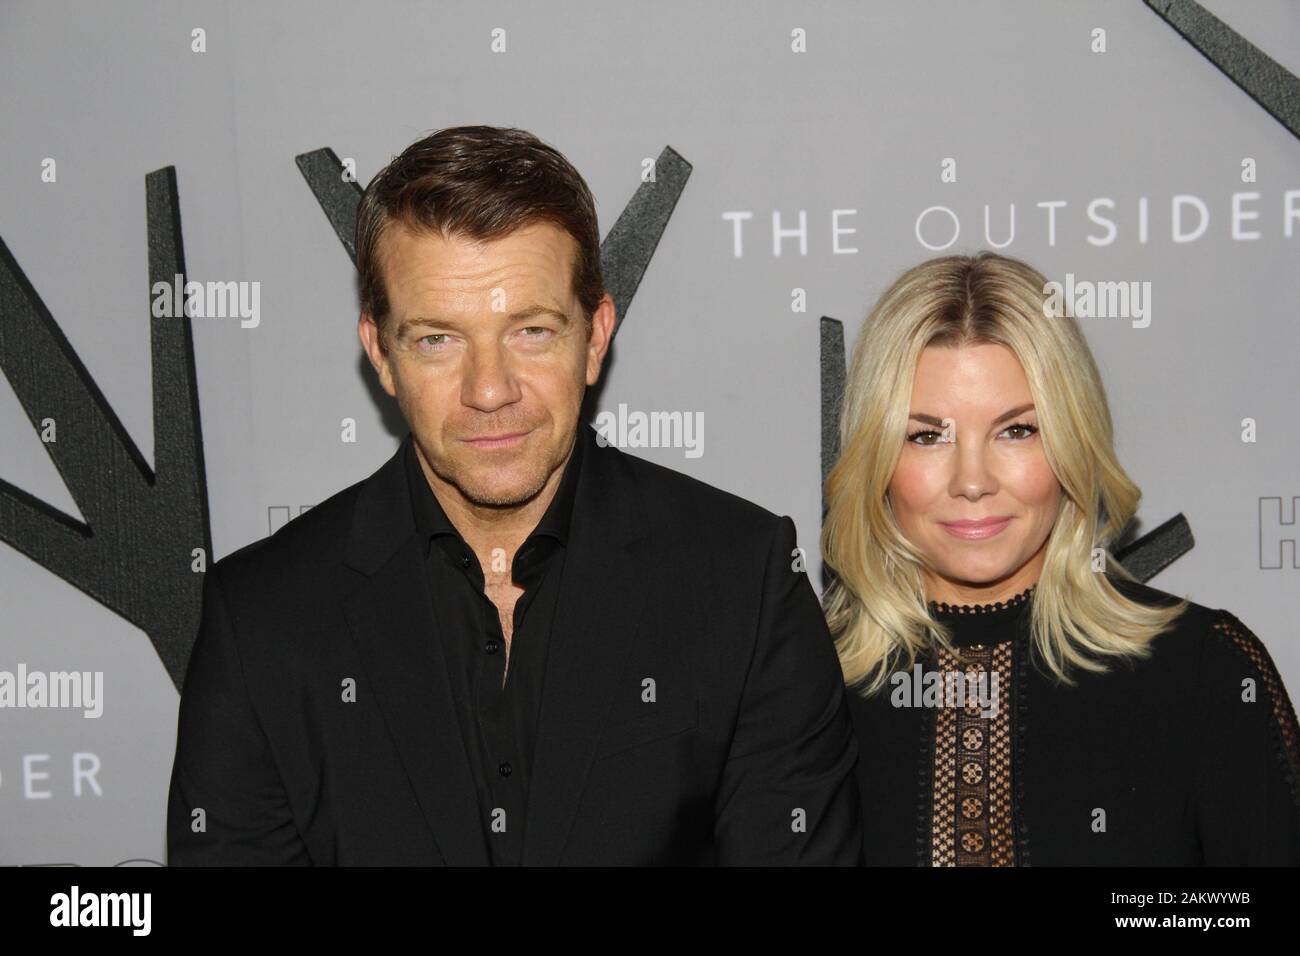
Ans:
{"label": "man's black button-up shirt with open collar under jacket", "polygon": [[524,593],[515,604],[507,669],[506,639],[497,606],[484,592],[478,558],[442,510],[420,468],[415,441],[410,436],[407,440],[411,509],[424,545],[438,620],[438,633],[433,639],[442,641],[447,661],[493,865],[517,866],[523,852],[546,650],[564,570],[582,447],[582,436],[575,436],[560,486],[510,568],[512,580]]}

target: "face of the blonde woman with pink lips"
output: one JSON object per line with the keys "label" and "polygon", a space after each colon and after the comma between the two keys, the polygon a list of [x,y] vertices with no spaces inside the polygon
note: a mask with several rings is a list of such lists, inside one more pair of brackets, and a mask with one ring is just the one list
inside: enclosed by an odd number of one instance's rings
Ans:
{"label": "face of the blonde woman with pink lips", "polygon": [[937,575],[928,597],[989,604],[1039,579],[1061,485],[1024,369],[1001,345],[926,349],[888,499]]}

